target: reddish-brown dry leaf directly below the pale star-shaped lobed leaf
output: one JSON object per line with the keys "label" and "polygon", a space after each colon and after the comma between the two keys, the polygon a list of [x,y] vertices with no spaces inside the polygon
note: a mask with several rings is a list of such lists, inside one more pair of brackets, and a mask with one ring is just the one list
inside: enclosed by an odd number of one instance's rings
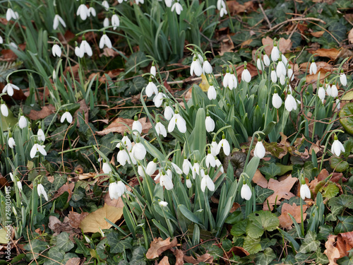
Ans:
{"label": "reddish-brown dry leaf directly below the pale star-shaped lobed leaf", "polygon": [[[303,220],[306,219],[306,208],[308,208],[307,205],[303,205]],[[280,226],[282,228],[286,228],[289,230],[292,228],[293,221],[292,218],[290,218],[289,213],[294,217],[294,219],[297,221],[297,223],[301,223],[301,207],[300,205],[297,206],[297,204],[283,204],[282,205],[282,211],[281,215],[278,216],[278,219],[280,220]]]}

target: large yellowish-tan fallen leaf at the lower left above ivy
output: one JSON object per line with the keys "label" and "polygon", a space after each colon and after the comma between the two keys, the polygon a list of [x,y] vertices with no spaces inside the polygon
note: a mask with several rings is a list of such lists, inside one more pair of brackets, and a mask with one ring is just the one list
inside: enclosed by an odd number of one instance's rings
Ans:
{"label": "large yellowish-tan fallen leaf at the lower left above ivy", "polygon": [[80,223],[83,232],[100,232],[100,229],[109,229],[112,227],[104,218],[115,223],[123,216],[123,208],[115,208],[104,204],[104,207],[88,214]]}

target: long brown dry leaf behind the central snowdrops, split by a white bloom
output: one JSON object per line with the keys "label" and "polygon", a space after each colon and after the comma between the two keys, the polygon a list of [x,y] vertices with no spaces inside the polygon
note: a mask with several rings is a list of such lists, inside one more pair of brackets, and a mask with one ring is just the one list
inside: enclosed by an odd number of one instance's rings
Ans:
{"label": "long brown dry leaf behind the central snowdrops, split by a white bloom", "polygon": [[[138,119],[138,121],[142,124],[142,133],[147,134],[148,131],[150,131],[152,128],[150,121],[146,117]],[[97,134],[106,135],[110,132],[119,132],[120,134],[124,134],[125,131],[128,131],[128,128],[125,126],[125,124],[131,128],[133,119],[124,119],[120,117],[116,118],[111,124],[109,124],[109,126],[107,126],[107,128],[103,129],[102,131],[97,131]]]}

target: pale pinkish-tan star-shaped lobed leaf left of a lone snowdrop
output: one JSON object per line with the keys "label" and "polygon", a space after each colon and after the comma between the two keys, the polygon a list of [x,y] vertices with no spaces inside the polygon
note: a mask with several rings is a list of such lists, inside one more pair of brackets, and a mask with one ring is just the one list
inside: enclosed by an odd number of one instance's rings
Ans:
{"label": "pale pinkish-tan star-shaped lobed leaf left of a lone snowdrop", "polygon": [[280,199],[290,199],[295,195],[290,192],[295,182],[297,182],[296,177],[289,175],[286,179],[278,181],[276,179],[270,179],[268,181],[268,189],[272,189],[275,193],[268,196],[263,202],[263,210],[268,211],[268,204],[270,204],[270,210],[273,210],[273,206],[280,204]]}

